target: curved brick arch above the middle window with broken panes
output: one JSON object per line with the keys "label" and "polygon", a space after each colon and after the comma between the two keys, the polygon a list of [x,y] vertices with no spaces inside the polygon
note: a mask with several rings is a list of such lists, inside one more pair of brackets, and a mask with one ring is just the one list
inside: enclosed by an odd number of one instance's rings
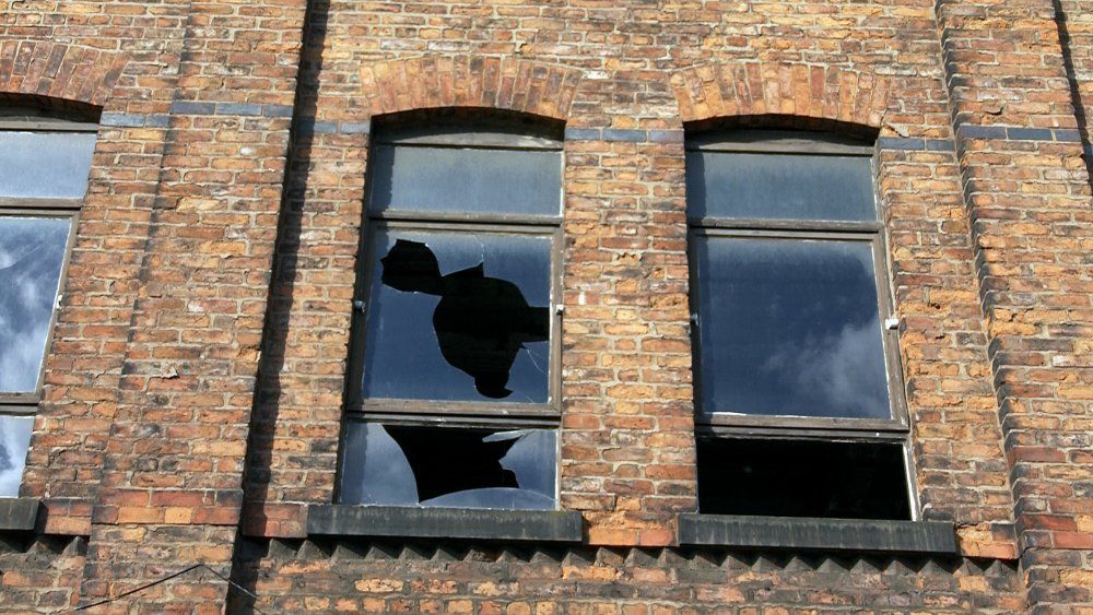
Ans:
{"label": "curved brick arch above the middle window with broken panes", "polygon": [[482,107],[564,120],[580,79],[577,69],[512,58],[415,58],[361,69],[369,116]]}

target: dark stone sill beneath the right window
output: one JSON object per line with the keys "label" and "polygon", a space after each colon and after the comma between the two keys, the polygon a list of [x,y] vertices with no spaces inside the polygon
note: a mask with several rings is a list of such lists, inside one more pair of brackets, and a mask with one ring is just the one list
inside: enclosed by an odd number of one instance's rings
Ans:
{"label": "dark stone sill beneath the right window", "polygon": [[679,544],[815,551],[956,554],[956,531],[939,521],[795,517],[679,517]]}

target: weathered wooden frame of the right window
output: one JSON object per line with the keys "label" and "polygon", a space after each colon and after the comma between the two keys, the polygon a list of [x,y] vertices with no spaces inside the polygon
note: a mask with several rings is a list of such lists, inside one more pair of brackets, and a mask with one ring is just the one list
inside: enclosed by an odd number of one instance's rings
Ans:
{"label": "weathered wooden frame of the right window", "polygon": [[[696,216],[687,210],[687,262],[691,283],[692,356],[694,360],[695,437],[698,439],[824,440],[847,443],[890,443],[903,449],[904,481],[910,519],[920,519],[915,487],[914,459],[909,446],[910,423],[900,355],[897,312],[892,284],[889,243],[881,194],[878,191],[875,144],[822,131],[727,129],[689,134],[685,152],[725,152],[769,155],[854,156],[870,162],[873,196],[872,220],[833,221],[804,218],[755,218],[718,215]],[[689,176],[690,182],[690,176]],[[873,284],[881,326],[882,355],[891,418],[823,417],[799,415],[729,414],[703,407],[702,316],[704,291],[697,271],[700,241],[717,239],[827,240],[867,243],[873,259]],[[701,489],[701,487],[700,487]]]}

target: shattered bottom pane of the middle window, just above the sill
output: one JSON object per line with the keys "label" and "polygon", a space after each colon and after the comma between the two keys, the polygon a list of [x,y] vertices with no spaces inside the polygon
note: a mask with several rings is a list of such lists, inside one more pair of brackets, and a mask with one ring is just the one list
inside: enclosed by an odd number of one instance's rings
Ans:
{"label": "shattered bottom pane of the middle window, just above the sill", "polygon": [[457,508],[555,508],[557,436],[350,423],[341,501]]}

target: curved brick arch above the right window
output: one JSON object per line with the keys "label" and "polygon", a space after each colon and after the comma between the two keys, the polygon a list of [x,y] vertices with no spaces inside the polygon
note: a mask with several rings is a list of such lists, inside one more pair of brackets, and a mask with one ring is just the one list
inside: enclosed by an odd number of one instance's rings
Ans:
{"label": "curved brick arch above the right window", "polygon": [[889,80],[868,71],[775,62],[692,67],[672,76],[684,122],[794,116],[880,128]]}

